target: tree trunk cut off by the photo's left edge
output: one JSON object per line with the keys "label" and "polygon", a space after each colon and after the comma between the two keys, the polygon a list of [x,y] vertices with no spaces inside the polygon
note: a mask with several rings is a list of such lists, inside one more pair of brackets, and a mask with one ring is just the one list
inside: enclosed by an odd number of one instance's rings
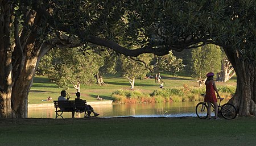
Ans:
{"label": "tree trunk cut off by the photo's left edge", "polygon": [[0,118],[11,118],[12,51],[10,43],[10,18],[13,6],[0,1]]}

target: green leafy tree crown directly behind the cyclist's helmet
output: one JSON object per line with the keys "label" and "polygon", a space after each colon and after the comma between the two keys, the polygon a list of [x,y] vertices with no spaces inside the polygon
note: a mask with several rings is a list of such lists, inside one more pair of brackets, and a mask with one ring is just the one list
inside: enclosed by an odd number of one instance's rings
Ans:
{"label": "green leafy tree crown directly behind the cyclist's helmet", "polygon": [[192,77],[201,80],[208,72],[220,72],[221,54],[220,47],[213,44],[192,49]]}

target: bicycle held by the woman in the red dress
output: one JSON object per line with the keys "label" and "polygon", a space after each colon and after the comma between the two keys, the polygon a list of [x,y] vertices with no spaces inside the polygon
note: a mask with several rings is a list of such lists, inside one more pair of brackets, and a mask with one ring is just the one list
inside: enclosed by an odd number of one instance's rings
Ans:
{"label": "bicycle held by the woman in the red dress", "polygon": [[[205,97],[204,94],[201,94]],[[220,102],[218,103],[218,115],[222,115],[225,119],[234,119],[237,116],[237,109],[230,103],[225,103],[224,105],[221,105],[221,101],[224,98],[220,98]],[[211,106],[213,107],[214,112],[214,105],[211,103]],[[208,117],[207,112],[207,102],[199,102],[196,105],[196,115],[200,119],[206,119]]]}

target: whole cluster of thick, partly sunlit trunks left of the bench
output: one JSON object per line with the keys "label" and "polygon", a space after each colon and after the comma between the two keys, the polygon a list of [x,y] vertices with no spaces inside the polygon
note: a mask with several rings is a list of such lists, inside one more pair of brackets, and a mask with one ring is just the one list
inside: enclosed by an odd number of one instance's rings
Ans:
{"label": "whole cluster of thick, partly sunlit trunks left of the bench", "polygon": [[[31,30],[23,29],[20,34],[18,18],[14,17],[14,23],[10,21],[13,13],[11,5],[8,1],[0,1],[0,118],[26,118],[28,93],[39,60],[53,46],[67,44],[58,38],[44,42],[39,39],[36,35],[40,15],[27,7],[19,9],[24,9],[24,14],[27,14],[23,23]],[[11,45],[10,31],[14,34],[14,45]]]}

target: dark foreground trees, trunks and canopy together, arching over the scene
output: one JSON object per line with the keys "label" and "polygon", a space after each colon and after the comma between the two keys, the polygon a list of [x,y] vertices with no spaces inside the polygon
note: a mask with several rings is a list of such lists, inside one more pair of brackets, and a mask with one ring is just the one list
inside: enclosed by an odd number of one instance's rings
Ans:
{"label": "dark foreground trees, trunks and canopy together, arching over the scene", "polygon": [[255,7],[254,0],[2,0],[0,117],[26,117],[32,78],[49,49],[94,44],[163,56],[209,43],[224,48],[237,73],[230,102],[241,116],[256,115]]}

